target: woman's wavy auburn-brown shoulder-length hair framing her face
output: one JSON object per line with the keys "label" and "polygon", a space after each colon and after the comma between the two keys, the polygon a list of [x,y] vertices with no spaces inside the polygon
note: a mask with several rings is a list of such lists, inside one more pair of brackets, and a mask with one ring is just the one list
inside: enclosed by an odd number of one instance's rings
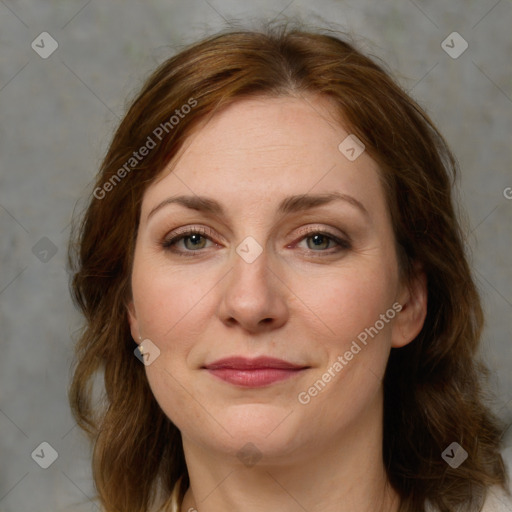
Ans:
{"label": "woman's wavy auburn-brown shoulder-length hair framing her face", "polygon": [[[69,398],[93,443],[105,510],[145,512],[180,477],[180,498],[189,485],[180,431],[133,354],[127,302],[140,205],[202,121],[252,97],[331,100],[340,126],[378,164],[402,279],[411,282],[417,268],[427,277],[423,328],[392,349],[383,383],[383,462],[400,511],[424,511],[427,503],[477,511],[487,488],[505,488],[502,426],[485,405],[487,370],[477,356],[483,313],[451,197],[457,162],[425,111],[345,39],[288,25],[221,32],[161,64],[117,128],[69,246],[72,294],[85,316]],[[134,157],[150,140],[155,147]],[[97,403],[93,381],[101,373]],[[441,457],[454,441],[469,455],[457,469]]]}

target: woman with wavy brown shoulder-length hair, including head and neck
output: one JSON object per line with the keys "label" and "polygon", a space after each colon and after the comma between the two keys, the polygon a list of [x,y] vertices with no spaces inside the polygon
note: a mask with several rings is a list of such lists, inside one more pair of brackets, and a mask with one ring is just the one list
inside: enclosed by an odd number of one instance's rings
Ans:
{"label": "woman with wavy brown shoulder-length hair, including head and neck", "polygon": [[332,35],[224,33],[161,65],[70,252],[104,510],[511,510],[455,173]]}

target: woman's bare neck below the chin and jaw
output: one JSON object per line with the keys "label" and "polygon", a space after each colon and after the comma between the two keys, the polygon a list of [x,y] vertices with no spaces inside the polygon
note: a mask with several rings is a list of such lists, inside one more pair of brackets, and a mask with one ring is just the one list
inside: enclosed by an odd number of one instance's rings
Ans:
{"label": "woman's bare neck below the chin and jaw", "polygon": [[301,453],[250,467],[183,437],[190,487],[181,511],[396,512],[382,460],[382,408],[369,410],[377,421],[366,418],[329,442],[316,439]]}

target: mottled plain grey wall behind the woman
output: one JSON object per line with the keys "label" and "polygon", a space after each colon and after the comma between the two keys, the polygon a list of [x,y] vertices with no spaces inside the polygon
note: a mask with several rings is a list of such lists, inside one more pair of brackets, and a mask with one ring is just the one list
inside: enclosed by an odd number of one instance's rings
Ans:
{"label": "mottled plain grey wall behind the woman", "polygon": [[[75,203],[129,99],[157,64],[225,19],[281,11],[356,34],[458,156],[487,313],[482,352],[496,411],[512,423],[510,0],[0,0],[0,511],[97,510],[89,447],[66,396],[80,318],[65,253]],[[59,45],[47,59],[31,48],[44,31]],[[441,47],[454,31],[469,45],[458,58]],[[31,458],[43,441],[58,453],[48,469]],[[511,461],[512,428],[506,445]]]}

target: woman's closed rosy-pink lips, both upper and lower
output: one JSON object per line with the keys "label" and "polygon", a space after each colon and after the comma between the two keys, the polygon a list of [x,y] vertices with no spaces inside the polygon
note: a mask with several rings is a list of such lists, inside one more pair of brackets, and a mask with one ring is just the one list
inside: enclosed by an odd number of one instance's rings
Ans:
{"label": "woman's closed rosy-pink lips, both upper and lower", "polygon": [[271,357],[229,357],[203,367],[214,377],[235,386],[263,387],[300,374],[308,366],[301,366]]}

